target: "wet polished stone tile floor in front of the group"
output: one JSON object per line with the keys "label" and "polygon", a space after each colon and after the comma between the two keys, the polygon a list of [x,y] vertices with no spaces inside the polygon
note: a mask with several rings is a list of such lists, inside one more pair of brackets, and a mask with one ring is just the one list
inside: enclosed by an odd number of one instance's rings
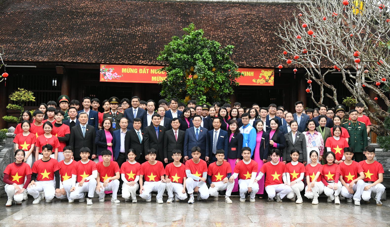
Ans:
{"label": "wet polished stone tile floor in front of the group", "polygon": [[[166,201],[164,197],[164,201]],[[0,199],[0,227],[2,226],[166,226],[166,227],[390,227],[390,201],[376,206],[375,201],[355,206],[341,201],[340,205],[327,203],[322,197],[318,205],[312,205],[308,199],[302,204],[284,200],[283,203],[267,202],[256,199],[255,203],[239,202],[233,204],[209,198],[194,204],[174,202],[157,204],[153,196],[151,203],[138,199],[138,203],[111,203],[110,198],[99,202],[93,199],[93,205],[53,200],[53,203],[32,205],[32,199],[22,205],[5,207],[6,198]]]}

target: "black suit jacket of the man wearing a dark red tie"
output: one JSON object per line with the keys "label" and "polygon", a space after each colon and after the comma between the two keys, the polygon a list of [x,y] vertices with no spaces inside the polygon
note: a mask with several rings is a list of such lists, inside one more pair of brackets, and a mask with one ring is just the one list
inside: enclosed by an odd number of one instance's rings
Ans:
{"label": "black suit jacket of the man wearing a dark red tie", "polygon": [[177,141],[175,138],[175,133],[172,129],[165,131],[164,135],[164,159],[173,161],[172,159],[172,150],[179,149],[183,154],[184,147],[184,134],[185,132],[178,129],[177,130]]}

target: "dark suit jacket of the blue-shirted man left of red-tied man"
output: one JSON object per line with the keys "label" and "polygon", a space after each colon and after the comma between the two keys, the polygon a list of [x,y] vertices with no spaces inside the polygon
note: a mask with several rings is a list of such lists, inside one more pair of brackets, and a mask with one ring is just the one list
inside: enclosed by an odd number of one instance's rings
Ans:
{"label": "dark suit jacket of the blue-shirted man left of red-tied man", "polygon": [[[165,135],[165,127],[158,126],[158,139],[156,135],[156,131],[154,130],[153,124],[147,126],[144,129],[144,148],[147,152],[150,148],[154,148],[157,150],[156,160],[163,162],[164,161],[164,135]],[[138,136],[137,136],[138,138]]]}

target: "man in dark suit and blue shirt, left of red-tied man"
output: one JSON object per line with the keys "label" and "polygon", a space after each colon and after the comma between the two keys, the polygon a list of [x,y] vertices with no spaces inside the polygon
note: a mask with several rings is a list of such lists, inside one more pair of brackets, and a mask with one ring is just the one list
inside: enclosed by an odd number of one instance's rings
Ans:
{"label": "man in dark suit and blue shirt, left of red-tied man", "polygon": [[144,148],[145,151],[150,148],[157,150],[156,160],[164,162],[164,134],[165,127],[160,125],[161,116],[154,113],[152,116],[152,124],[144,130]]}

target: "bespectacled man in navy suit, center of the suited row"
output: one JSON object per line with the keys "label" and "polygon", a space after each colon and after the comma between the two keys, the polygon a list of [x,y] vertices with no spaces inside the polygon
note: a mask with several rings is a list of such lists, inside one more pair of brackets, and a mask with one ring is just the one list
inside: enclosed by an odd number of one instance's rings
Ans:
{"label": "bespectacled man in navy suit, center of the suited row", "polygon": [[184,161],[192,158],[191,149],[193,147],[200,147],[200,159],[209,161],[209,139],[207,136],[207,129],[200,127],[201,122],[202,117],[199,115],[193,116],[192,123],[194,126],[188,128],[184,134]]}

